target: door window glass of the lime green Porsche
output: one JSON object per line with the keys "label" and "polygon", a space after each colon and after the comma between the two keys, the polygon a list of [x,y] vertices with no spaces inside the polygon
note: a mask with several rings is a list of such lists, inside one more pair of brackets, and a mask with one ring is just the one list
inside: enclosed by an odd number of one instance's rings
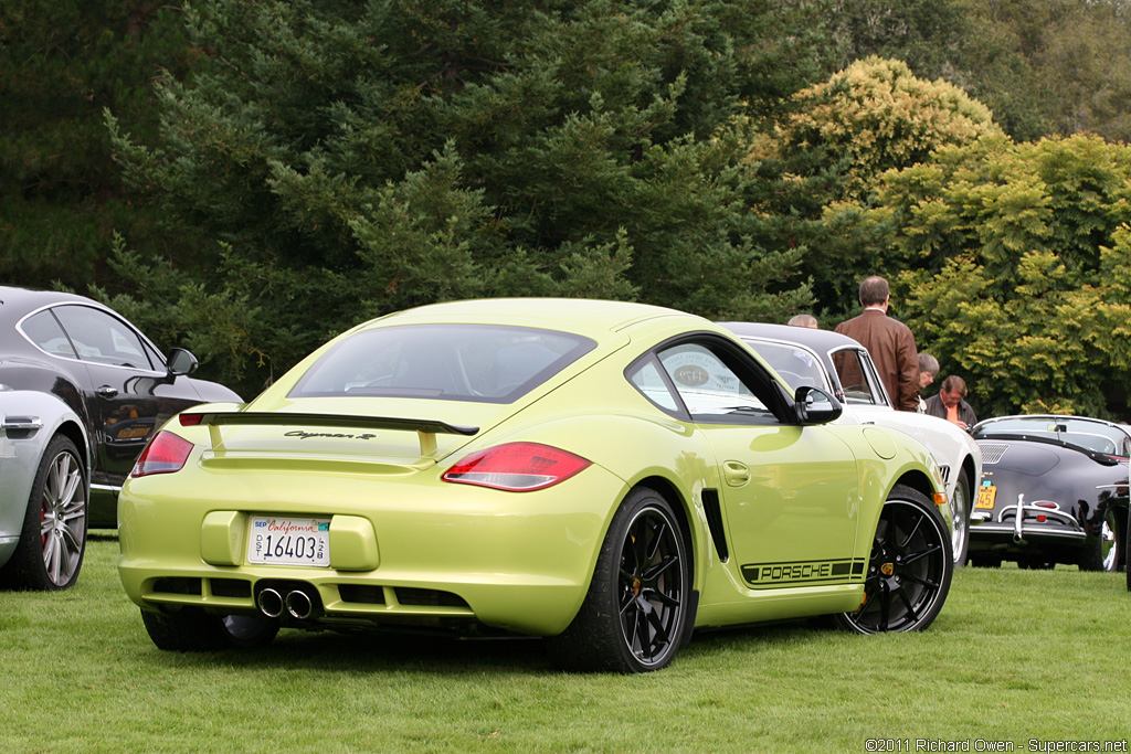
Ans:
{"label": "door window glass of the lime green Porsche", "polygon": [[659,362],[697,422],[776,423],[750,385],[707,346],[673,346],[659,352]]}

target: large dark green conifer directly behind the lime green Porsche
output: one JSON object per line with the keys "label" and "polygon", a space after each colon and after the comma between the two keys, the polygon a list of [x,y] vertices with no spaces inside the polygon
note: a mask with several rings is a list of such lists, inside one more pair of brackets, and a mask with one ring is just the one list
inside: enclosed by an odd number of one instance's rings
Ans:
{"label": "large dark green conifer directly behind the lime green Porsche", "polygon": [[[810,301],[800,251],[760,244],[727,127],[819,62],[770,5],[214,0],[185,17],[205,60],[161,81],[161,138],[107,121],[129,185],[197,253],[166,265],[124,239],[120,274],[170,305],[114,301],[204,327],[193,346],[244,392],[433,301],[745,318]],[[763,73],[785,57],[789,76]]]}

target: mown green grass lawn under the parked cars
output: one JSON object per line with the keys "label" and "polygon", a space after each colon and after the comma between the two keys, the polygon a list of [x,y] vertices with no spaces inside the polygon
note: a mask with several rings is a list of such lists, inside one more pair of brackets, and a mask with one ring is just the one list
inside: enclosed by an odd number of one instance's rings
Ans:
{"label": "mown green grass lawn under the parked cars", "polygon": [[924,633],[697,634],[667,669],[614,676],[559,673],[533,640],[283,631],[264,650],[162,652],[116,557],[96,537],[75,589],[0,592],[0,752],[867,752],[875,738],[887,751],[1056,751],[1028,746],[1131,738],[1123,574],[962,569]]}

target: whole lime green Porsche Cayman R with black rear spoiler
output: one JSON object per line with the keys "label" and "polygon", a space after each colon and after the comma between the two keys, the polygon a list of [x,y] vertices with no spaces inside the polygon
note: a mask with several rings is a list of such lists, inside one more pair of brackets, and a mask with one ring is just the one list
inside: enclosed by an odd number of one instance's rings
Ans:
{"label": "whole lime green Porsche Cayman R with black rear spoiler", "polygon": [[940,474],[839,414],[682,312],[423,306],[174,417],[119,499],[121,580],[167,650],[441,630],[639,673],[698,629],[924,629],[952,573]]}

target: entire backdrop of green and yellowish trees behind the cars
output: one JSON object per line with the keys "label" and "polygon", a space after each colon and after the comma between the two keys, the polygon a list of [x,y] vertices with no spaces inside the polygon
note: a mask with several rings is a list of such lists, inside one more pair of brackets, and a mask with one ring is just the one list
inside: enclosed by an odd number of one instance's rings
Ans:
{"label": "entire backdrop of green and yellowish trees behind the cars", "polygon": [[0,7],[0,275],[253,395],[448,298],[826,324],[855,286],[981,415],[1126,417],[1122,0]]}

